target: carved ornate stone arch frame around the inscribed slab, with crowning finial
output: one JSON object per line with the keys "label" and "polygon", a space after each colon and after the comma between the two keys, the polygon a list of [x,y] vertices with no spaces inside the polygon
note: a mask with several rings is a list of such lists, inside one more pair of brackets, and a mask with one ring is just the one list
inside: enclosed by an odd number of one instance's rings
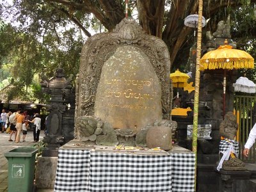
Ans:
{"label": "carved ornate stone arch frame around the inscribed slab, with crowning finial", "polygon": [[[146,35],[134,19],[123,19],[112,33],[99,33],[88,38],[81,52],[76,89],[76,116],[94,115],[94,103],[102,66],[119,46],[138,47],[149,58],[161,83],[163,118],[170,118],[170,54],[163,40]],[[75,131],[76,132],[76,131]]]}

